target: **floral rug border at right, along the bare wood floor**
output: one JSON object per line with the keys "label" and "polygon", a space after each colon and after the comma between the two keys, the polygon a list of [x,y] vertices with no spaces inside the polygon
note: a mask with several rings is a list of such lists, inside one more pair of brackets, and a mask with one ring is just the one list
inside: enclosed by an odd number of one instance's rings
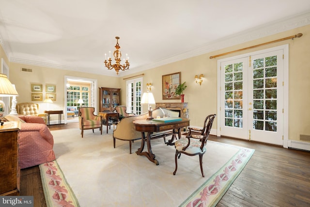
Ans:
{"label": "floral rug border at right, along the bare wood floor", "polygon": [[194,191],[179,207],[214,207],[217,205],[255,151],[254,149],[239,146],[234,147],[240,148],[240,150],[221,169]]}

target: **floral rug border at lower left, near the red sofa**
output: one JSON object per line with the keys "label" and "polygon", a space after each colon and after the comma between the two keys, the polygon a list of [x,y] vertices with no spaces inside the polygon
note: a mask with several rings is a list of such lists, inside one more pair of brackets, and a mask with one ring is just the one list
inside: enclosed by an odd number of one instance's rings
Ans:
{"label": "floral rug border at lower left, near the red sofa", "polygon": [[47,207],[79,207],[56,160],[39,165]]}

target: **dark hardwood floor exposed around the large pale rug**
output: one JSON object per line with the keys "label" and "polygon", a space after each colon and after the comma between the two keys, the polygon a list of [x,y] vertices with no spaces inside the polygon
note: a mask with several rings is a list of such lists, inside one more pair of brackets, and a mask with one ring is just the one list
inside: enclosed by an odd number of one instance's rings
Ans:
{"label": "dark hardwood floor exposed around the large pale rug", "polygon": [[[50,126],[64,128],[78,123]],[[212,135],[209,140],[255,149],[217,207],[310,206],[310,152]],[[46,207],[38,166],[21,170],[20,194],[33,195],[34,207]]]}

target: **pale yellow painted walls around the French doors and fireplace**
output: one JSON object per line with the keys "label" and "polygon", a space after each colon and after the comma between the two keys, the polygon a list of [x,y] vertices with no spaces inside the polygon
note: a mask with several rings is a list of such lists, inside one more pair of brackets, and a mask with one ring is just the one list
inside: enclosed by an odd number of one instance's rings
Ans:
{"label": "pale yellow painted walls around the French doors and fireplace", "polygon": [[[296,33],[303,33],[301,38],[295,40],[286,40],[270,45],[253,48],[238,53],[218,57],[216,59],[209,59],[211,55],[245,48],[279,38],[294,35]],[[146,91],[146,83],[152,83],[152,92],[157,102],[180,102],[180,100],[162,100],[162,75],[181,72],[181,81],[186,81],[187,88],[185,90],[185,102],[189,105],[189,118],[192,126],[202,126],[202,122],[207,114],[217,113],[217,60],[227,58],[235,55],[249,53],[251,51],[261,50],[265,48],[272,48],[279,45],[289,44],[289,139],[299,140],[299,134],[310,135],[310,109],[308,103],[310,102],[310,68],[308,60],[310,57],[310,25],[296,28],[291,31],[281,32],[275,35],[270,35],[261,39],[236,45],[230,48],[224,48],[218,51],[206,53],[197,57],[188,58],[186,60],[178,61],[171,64],[159,66],[143,72],[128,75],[127,77],[139,75],[144,73],[143,90]],[[1,57],[5,56],[3,50],[0,50]],[[5,57],[6,58],[6,57]],[[98,86],[122,88],[122,105],[125,105],[126,100],[126,80],[113,77],[100,76],[80,73],[74,71],[46,68],[41,66],[24,65],[10,63],[10,80],[16,84],[16,89],[20,96],[17,97],[18,102],[30,101],[31,97],[31,83],[51,83],[57,85],[57,101],[56,106],[63,108],[64,102],[64,76],[84,77],[90,79],[97,79]],[[30,67],[33,69],[32,74],[25,74],[20,71],[21,67]],[[196,84],[194,76],[204,74],[205,78],[202,85]],[[138,77],[136,77],[138,78]],[[134,78],[133,78],[134,79]],[[61,89],[61,90],[59,90]],[[45,94],[44,94],[45,96]],[[146,108],[146,107],[145,107]],[[144,108],[144,111],[146,110]],[[216,122],[214,127],[217,128]]]}

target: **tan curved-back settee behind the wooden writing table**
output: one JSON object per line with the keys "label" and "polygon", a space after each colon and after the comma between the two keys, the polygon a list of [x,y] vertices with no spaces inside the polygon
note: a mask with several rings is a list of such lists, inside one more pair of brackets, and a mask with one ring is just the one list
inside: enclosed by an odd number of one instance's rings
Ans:
{"label": "tan curved-back settee behind the wooden writing table", "polygon": [[[156,118],[157,116],[163,117],[164,115],[168,115],[170,117],[178,117],[178,111],[171,111],[165,108],[155,109],[152,112],[152,116]],[[135,140],[141,139],[141,132],[136,131],[134,124],[132,123],[134,120],[138,119],[146,119],[149,116],[149,113],[143,113],[136,116],[128,116],[124,117],[117,125],[116,129],[113,131],[113,146],[115,148],[115,140],[123,140],[129,141],[129,153],[131,154],[131,143]],[[162,135],[164,138],[164,142],[166,142],[165,137],[171,134],[171,131],[163,131],[163,132],[155,132],[154,135]]]}

